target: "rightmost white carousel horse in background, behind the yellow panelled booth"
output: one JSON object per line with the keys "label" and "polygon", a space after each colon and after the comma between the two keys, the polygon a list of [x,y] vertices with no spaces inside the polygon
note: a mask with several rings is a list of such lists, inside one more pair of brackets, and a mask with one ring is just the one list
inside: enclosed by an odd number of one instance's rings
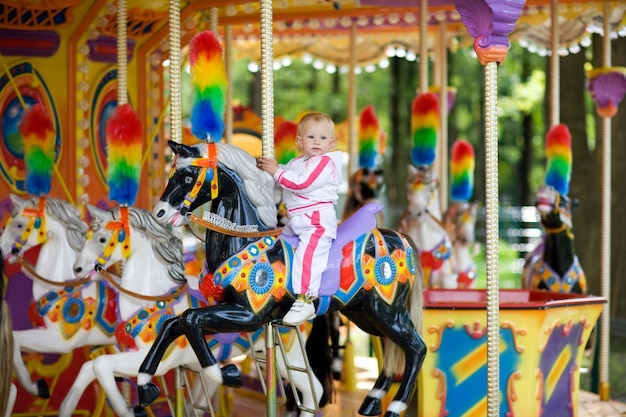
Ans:
{"label": "rightmost white carousel horse in background, behind the yellow panelled booth", "polygon": [[452,241],[452,272],[456,275],[457,288],[472,289],[476,285],[476,204],[455,201],[444,214],[444,224]]}

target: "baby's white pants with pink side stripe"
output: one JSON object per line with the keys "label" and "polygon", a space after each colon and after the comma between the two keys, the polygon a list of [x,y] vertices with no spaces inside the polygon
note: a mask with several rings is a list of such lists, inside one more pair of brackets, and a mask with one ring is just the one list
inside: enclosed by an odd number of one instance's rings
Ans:
{"label": "baby's white pants with pink side stripe", "polygon": [[317,297],[328,253],[337,237],[337,214],[333,207],[289,218],[283,233],[300,239],[291,269],[291,284],[296,294]]}

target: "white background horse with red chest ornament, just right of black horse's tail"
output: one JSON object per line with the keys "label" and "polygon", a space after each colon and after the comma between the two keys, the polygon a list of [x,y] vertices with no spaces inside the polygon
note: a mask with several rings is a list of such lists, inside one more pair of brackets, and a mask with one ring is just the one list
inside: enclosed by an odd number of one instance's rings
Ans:
{"label": "white background horse with red chest ornament, just right of black horse's tail", "polygon": [[450,260],[452,242],[441,221],[439,181],[431,165],[409,164],[408,171],[408,207],[398,231],[410,236],[417,246],[427,287],[457,288]]}

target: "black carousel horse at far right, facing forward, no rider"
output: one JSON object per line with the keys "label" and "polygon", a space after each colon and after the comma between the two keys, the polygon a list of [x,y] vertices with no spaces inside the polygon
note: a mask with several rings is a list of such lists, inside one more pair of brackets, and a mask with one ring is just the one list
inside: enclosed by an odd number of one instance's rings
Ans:
{"label": "black carousel horse at far right, facing forward, no rider", "polygon": [[577,201],[561,195],[553,186],[542,185],[535,206],[544,236],[526,258],[523,285],[553,292],[586,294],[587,280],[574,249],[572,208]]}

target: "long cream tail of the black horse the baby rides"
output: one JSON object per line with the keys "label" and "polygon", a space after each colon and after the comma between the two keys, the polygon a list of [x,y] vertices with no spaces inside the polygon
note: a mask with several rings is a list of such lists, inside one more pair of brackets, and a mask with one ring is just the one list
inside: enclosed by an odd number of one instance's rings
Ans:
{"label": "long cream tail of the black horse the baby rides", "polygon": [[[413,281],[413,288],[409,292],[407,298],[407,311],[411,317],[413,325],[417,329],[417,332],[422,335],[423,325],[423,311],[424,311],[424,271],[422,270],[422,264],[419,261],[417,247],[409,236],[403,235],[407,240],[410,247],[413,249],[413,263],[415,265],[415,274]],[[396,343],[387,339],[385,341],[385,370],[389,374],[401,374],[404,372],[405,356],[404,351]]]}

